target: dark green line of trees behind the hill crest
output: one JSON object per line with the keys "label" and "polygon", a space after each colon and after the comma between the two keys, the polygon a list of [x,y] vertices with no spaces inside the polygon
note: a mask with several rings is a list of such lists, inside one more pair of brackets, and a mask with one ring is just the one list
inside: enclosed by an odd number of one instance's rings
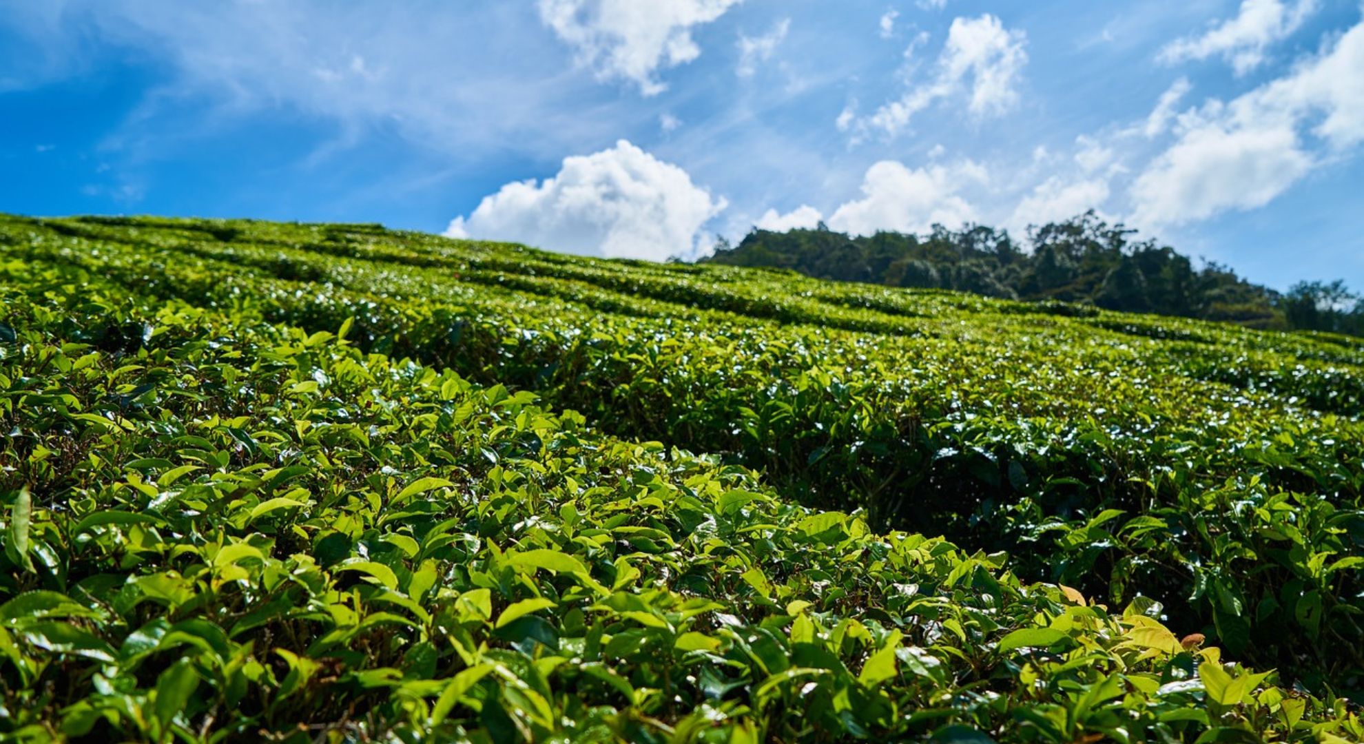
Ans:
{"label": "dark green line of trees behind the hill crest", "polygon": [[958,289],[992,298],[1061,300],[1251,328],[1364,336],[1364,298],[1344,281],[1303,281],[1288,292],[1249,283],[1217,262],[1195,265],[1136,229],[1093,210],[1031,227],[1024,242],[1004,229],[933,225],[928,235],[850,236],[754,228],[737,246],[722,239],[702,262],[767,266],[840,281]]}

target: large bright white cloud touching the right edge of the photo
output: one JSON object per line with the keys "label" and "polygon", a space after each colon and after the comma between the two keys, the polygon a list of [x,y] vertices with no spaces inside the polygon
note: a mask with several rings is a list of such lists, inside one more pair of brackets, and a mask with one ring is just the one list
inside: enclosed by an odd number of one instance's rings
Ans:
{"label": "large bright white cloud touching the right edge of the photo", "polygon": [[1174,143],[1132,184],[1133,221],[1180,224],[1263,206],[1331,153],[1364,142],[1360,70],[1364,23],[1285,76],[1178,116]]}

